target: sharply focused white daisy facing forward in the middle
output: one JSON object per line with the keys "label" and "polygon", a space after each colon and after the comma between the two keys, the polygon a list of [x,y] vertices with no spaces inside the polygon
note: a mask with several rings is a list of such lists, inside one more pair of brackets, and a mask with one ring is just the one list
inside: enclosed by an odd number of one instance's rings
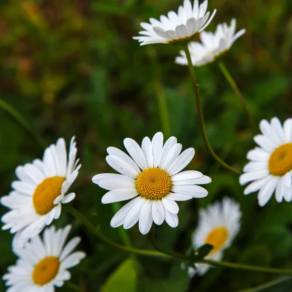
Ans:
{"label": "sharply focused white daisy facing forward in the middle", "polygon": [[152,140],[145,137],[141,147],[130,138],[124,140],[124,145],[131,157],[115,147],[107,149],[106,157],[107,163],[121,174],[103,173],[92,178],[93,183],[110,191],[102,197],[104,204],[133,199],[115,214],[110,225],[128,229],[139,221],[142,234],[149,232],[153,221],[161,225],[165,220],[177,227],[176,201],[207,196],[208,192],[197,184],[211,182],[199,171],[182,171],[193,159],[195,149],[181,153],[182,144],[175,137],[163,144],[161,132]]}

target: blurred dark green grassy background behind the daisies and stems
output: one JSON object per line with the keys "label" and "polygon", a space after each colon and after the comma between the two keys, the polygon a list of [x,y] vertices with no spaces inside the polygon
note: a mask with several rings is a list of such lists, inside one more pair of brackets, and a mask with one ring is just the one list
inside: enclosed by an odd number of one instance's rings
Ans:
{"label": "blurred dark green grassy background behind the daisies and stems", "polygon": [[[12,0],[0,2],[0,98],[17,110],[47,145],[76,135],[82,167],[72,190],[73,206],[113,240],[122,243],[119,229],[110,227],[115,204],[102,205],[105,190],[91,183],[109,172],[106,148],[123,149],[123,139],[141,143],[162,130],[158,97],[165,96],[170,134],[196,155],[188,169],[213,179],[205,199],[181,202],[179,226],[165,222],[156,228],[165,249],[186,251],[196,227],[198,208],[223,196],[235,198],[243,212],[242,227],[224,260],[292,269],[292,206],[271,199],[260,208],[256,194],[243,195],[238,177],[220,167],[200,135],[195,98],[187,67],[176,65],[180,50],[171,45],[140,47],[132,40],[139,23],[177,11],[180,0]],[[210,0],[218,12],[207,28],[237,18],[246,28],[224,57],[226,67],[245,95],[258,123],[292,109],[292,1]],[[219,154],[241,168],[255,146],[253,132],[237,96],[216,64],[196,68],[209,140]],[[168,137],[165,137],[165,140]],[[0,108],[0,194],[10,191],[19,164],[41,158],[43,148],[29,131]],[[7,211],[0,206],[0,215]],[[253,288],[278,280],[277,275],[224,268],[188,279],[179,261],[129,257],[99,242],[65,212],[56,226],[73,223],[71,237],[80,235],[79,250],[88,254],[71,270],[72,282],[83,292],[292,291],[292,281],[267,289]],[[151,249],[137,225],[128,231],[132,245]],[[0,232],[0,274],[14,264],[12,236]],[[251,290],[247,290],[252,288]],[[57,291],[73,291],[64,286]],[[3,281],[0,291],[5,291]]]}

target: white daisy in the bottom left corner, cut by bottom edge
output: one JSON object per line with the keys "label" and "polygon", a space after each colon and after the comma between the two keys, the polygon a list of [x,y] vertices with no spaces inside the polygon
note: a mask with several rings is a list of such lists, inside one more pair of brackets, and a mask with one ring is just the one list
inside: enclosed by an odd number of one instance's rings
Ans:
{"label": "white daisy in the bottom left corner, cut by bottom edge", "polygon": [[63,286],[71,278],[67,269],[86,256],[84,252],[72,253],[80,237],[74,237],[64,246],[70,229],[70,225],[57,231],[55,226],[46,228],[42,240],[37,235],[23,249],[15,250],[19,258],[2,277],[6,286],[10,286],[6,292],[54,292],[55,286]]}

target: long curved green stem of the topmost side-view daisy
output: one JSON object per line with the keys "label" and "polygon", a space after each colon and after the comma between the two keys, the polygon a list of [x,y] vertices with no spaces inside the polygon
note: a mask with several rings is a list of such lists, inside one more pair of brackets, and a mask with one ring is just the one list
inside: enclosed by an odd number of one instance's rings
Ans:
{"label": "long curved green stem of the topmost side-view daisy", "polygon": [[208,148],[209,152],[212,154],[212,156],[219,162],[219,164],[221,164],[222,166],[224,166],[225,168],[231,170],[232,172],[240,175],[240,171],[238,171],[236,168],[226,164],[221,158],[219,158],[219,156],[214,152],[209,140],[208,140],[208,136],[206,133],[206,127],[205,127],[205,122],[204,122],[204,115],[203,115],[203,110],[202,110],[202,106],[201,106],[201,97],[200,97],[200,92],[199,92],[199,87],[197,84],[197,80],[196,80],[196,75],[195,75],[195,70],[194,70],[194,66],[192,64],[192,60],[191,60],[191,55],[188,49],[188,45],[184,45],[183,46],[186,58],[187,58],[187,62],[188,62],[188,67],[189,67],[189,72],[191,75],[191,79],[193,82],[193,86],[194,86],[194,90],[195,90],[195,95],[196,95],[196,103],[197,103],[197,108],[198,108],[198,114],[199,114],[199,122],[200,122],[200,128],[201,128],[201,133],[203,136],[203,140],[204,143],[206,145],[206,147]]}

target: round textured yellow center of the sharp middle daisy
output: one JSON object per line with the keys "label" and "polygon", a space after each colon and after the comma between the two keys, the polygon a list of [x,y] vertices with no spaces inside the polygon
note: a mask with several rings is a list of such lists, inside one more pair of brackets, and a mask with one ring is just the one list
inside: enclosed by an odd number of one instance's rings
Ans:
{"label": "round textured yellow center of the sharp middle daisy", "polygon": [[148,200],[160,200],[171,191],[171,179],[161,168],[151,167],[143,170],[136,180],[138,194]]}

